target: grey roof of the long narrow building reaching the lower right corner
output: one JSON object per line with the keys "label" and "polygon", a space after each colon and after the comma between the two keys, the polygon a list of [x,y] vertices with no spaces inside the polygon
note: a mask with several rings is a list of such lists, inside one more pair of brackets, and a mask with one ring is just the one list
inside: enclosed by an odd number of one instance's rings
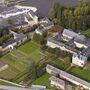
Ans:
{"label": "grey roof of the long narrow building reaching the lower right corner", "polygon": [[88,82],[86,82],[86,81],[84,81],[84,80],[82,80],[82,79],[80,79],[80,78],[78,78],[78,77],[75,77],[75,76],[73,76],[73,75],[71,75],[71,74],[69,74],[69,73],[67,73],[67,72],[65,72],[65,71],[62,71],[62,70],[60,70],[60,69],[57,69],[57,68],[55,68],[55,67],[53,67],[53,66],[51,66],[51,65],[49,65],[49,64],[46,66],[46,68],[50,69],[52,72],[53,72],[53,71],[58,72],[58,74],[59,74],[61,77],[66,77],[66,78],[68,78],[69,80],[76,81],[76,82],[80,83],[81,85],[85,85],[85,86],[87,86],[88,88],[90,88],[90,83],[88,83]]}

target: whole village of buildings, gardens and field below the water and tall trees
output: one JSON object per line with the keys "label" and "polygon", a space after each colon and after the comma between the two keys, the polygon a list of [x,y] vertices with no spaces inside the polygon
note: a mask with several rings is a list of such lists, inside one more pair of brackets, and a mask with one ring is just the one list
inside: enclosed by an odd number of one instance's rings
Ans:
{"label": "whole village of buildings, gardens and field below the water and tall trees", "polygon": [[90,37],[37,11],[0,0],[1,89],[90,90]]}

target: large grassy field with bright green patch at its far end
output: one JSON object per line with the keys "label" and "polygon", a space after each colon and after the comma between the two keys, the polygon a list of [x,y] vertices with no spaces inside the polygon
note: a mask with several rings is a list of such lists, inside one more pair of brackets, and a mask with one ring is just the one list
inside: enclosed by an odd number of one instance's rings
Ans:
{"label": "large grassy field with bright green patch at its far end", "polygon": [[39,49],[38,44],[29,41],[0,58],[0,68],[8,65],[0,72],[0,77],[13,81],[16,76],[23,75],[31,61],[38,62],[42,58]]}

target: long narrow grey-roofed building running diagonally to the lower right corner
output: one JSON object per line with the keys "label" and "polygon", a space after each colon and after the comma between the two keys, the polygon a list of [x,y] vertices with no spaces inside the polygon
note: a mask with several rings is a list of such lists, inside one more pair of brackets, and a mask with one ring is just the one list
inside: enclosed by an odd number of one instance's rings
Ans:
{"label": "long narrow grey-roofed building running diagonally to the lower right corner", "polygon": [[67,81],[70,81],[76,85],[79,85],[79,86],[82,86],[83,88],[87,89],[87,90],[90,90],[90,83],[78,78],[78,77],[75,77],[65,71],[62,71],[60,69],[57,69],[51,65],[47,65],[46,66],[46,71],[49,73],[49,74],[53,74],[54,73],[57,73],[61,78],[67,80]]}

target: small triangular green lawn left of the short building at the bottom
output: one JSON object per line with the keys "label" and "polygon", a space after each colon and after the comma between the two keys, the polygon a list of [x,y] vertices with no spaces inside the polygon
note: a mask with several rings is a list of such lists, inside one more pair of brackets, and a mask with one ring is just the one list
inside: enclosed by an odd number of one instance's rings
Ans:
{"label": "small triangular green lawn left of the short building at the bottom", "polygon": [[45,74],[42,75],[40,78],[36,79],[36,80],[32,83],[32,85],[43,85],[43,86],[46,86],[48,89],[50,89],[51,86],[50,86],[49,78],[50,78],[50,74],[45,73]]}

